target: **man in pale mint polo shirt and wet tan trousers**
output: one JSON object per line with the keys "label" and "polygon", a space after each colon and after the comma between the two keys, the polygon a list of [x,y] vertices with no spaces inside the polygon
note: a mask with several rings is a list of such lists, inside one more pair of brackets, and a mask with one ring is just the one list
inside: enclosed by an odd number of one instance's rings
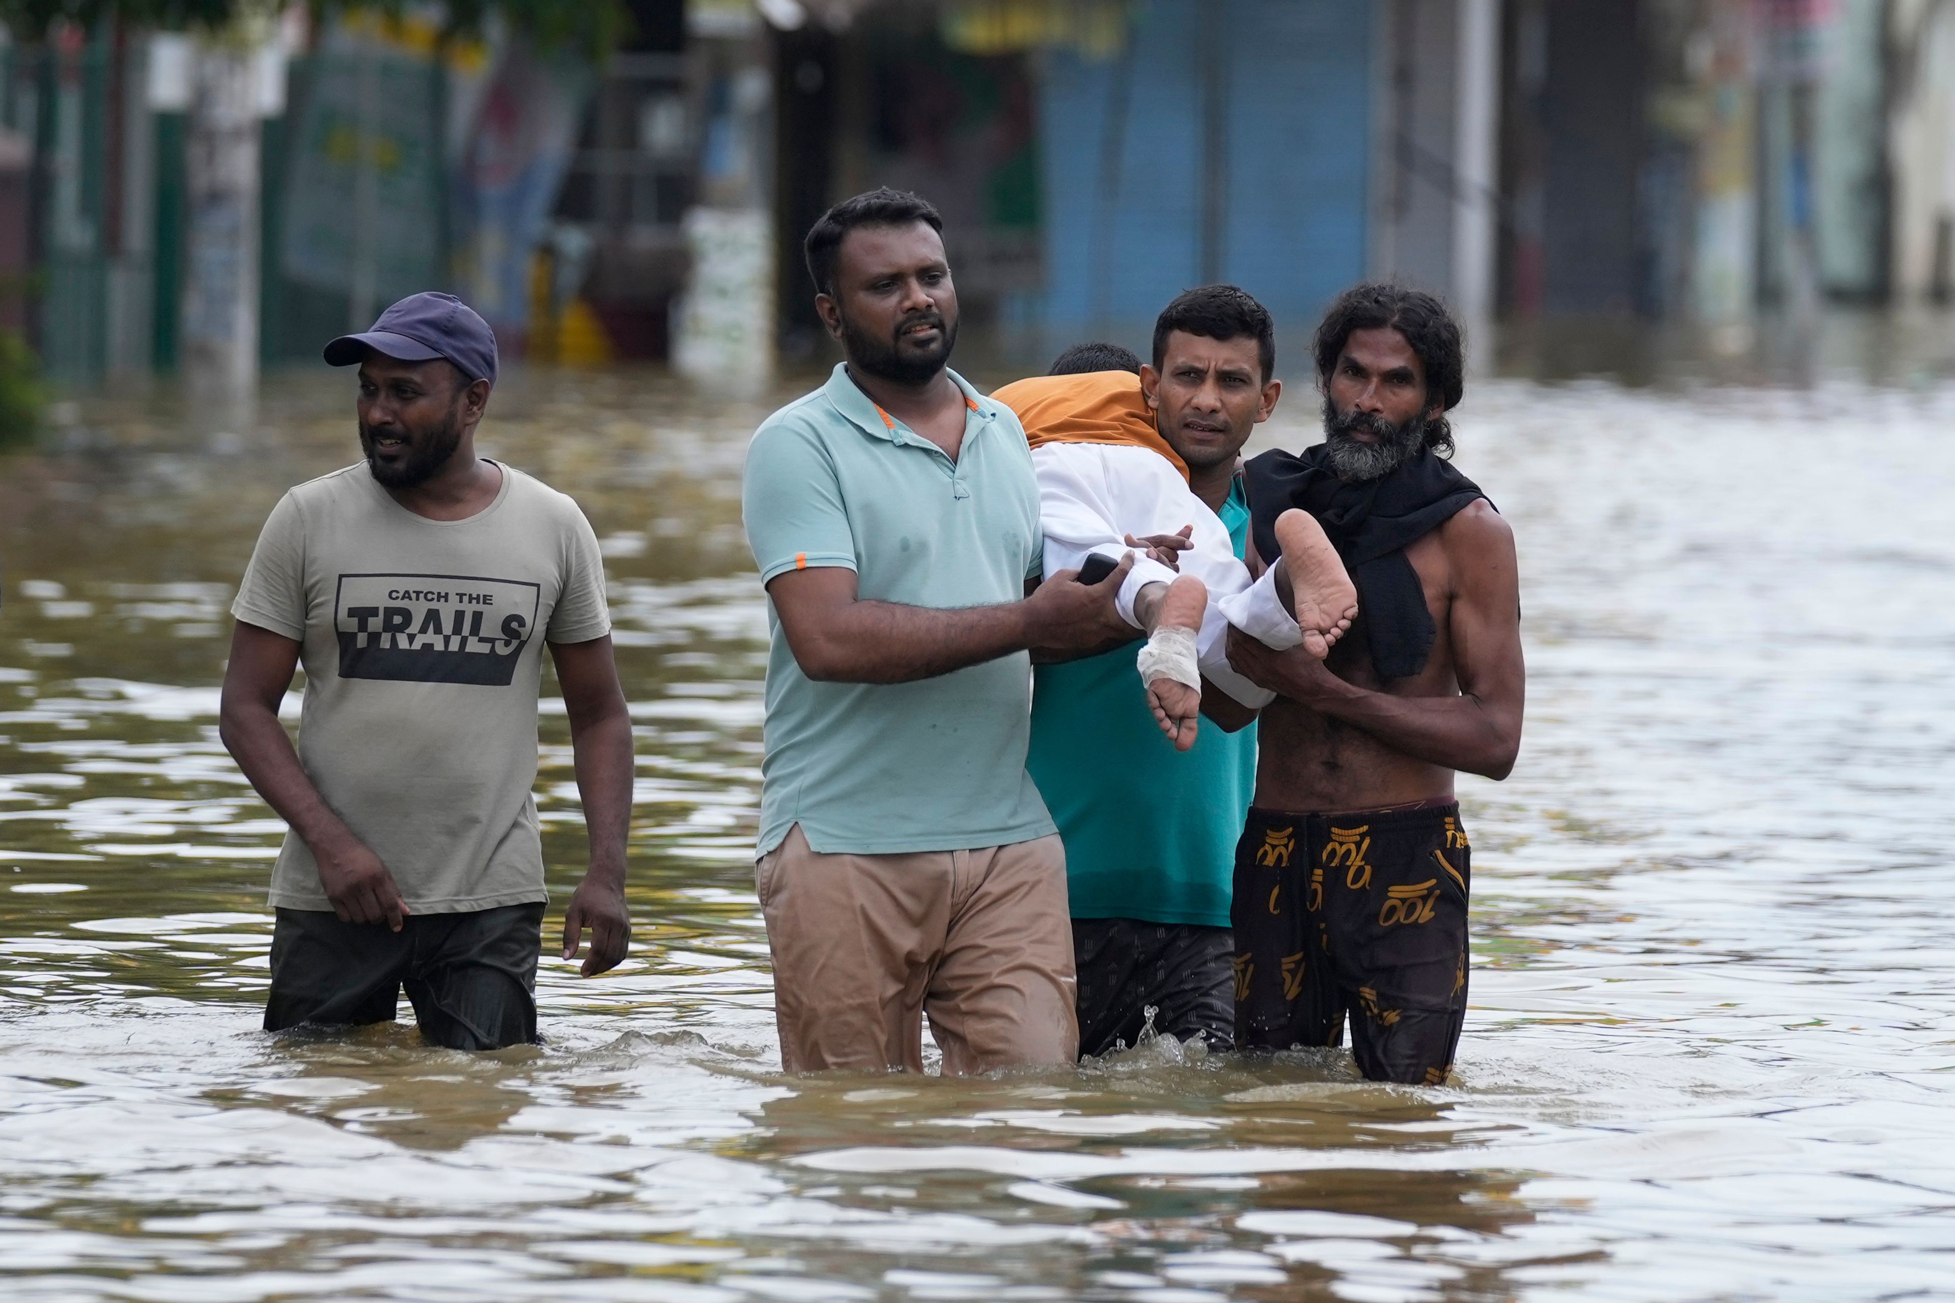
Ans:
{"label": "man in pale mint polo shirt and wet tan trousers", "polygon": [[[1042,570],[1024,430],[948,369],[942,219],[878,189],[807,232],[847,361],[747,449],[768,596],[755,885],[782,1067],[1069,1063],[1065,854],[1024,772],[1030,656],[1128,641],[1099,584]],[[1239,811],[1238,811],[1239,822]]]}

